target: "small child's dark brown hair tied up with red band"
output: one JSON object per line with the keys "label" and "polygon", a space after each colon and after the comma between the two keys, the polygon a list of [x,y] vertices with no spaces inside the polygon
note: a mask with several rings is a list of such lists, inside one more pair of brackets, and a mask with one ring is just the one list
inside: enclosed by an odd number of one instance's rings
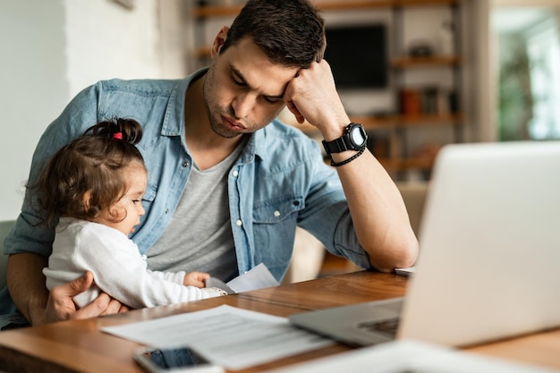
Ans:
{"label": "small child's dark brown hair tied up with red band", "polygon": [[[138,162],[146,168],[136,148],[141,139],[140,123],[115,118],[89,127],[80,138],[56,151],[38,182],[28,185],[38,193],[44,223],[54,227],[59,216],[90,220],[121,199],[129,187],[123,167]],[[84,203],[86,192],[89,203]]]}

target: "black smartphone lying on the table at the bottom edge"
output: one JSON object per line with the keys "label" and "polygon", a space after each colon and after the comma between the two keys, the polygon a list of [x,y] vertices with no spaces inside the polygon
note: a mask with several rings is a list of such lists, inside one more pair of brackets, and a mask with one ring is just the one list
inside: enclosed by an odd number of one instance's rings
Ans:
{"label": "black smartphone lying on the table at the bottom edge", "polygon": [[211,363],[187,346],[140,348],[134,352],[134,360],[149,373],[224,373],[222,367]]}

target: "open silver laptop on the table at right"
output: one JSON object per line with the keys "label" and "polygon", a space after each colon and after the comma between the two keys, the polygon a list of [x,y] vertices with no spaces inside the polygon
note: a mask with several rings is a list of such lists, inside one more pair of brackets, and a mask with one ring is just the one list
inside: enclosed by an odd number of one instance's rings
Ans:
{"label": "open silver laptop on the table at right", "polygon": [[419,236],[405,298],[290,321],[353,345],[466,346],[560,326],[560,141],[442,148]]}

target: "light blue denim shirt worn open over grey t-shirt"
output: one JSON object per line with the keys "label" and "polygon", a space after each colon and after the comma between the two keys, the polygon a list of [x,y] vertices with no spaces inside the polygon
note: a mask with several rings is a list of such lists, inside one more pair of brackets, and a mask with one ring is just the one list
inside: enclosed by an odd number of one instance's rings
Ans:
{"label": "light blue denim shirt worn open over grey t-shirt", "polygon": [[[132,233],[142,254],[169,223],[191,173],[185,143],[184,99],[193,78],[183,80],[99,81],[84,89],[48,127],[33,156],[30,183],[58,148],[91,125],[132,118],[143,127],[138,147],[148,168],[142,204],[146,214]],[[370,267],[352,228],[344,191],[320,149],[301,131],[275,120],[256,131],[228,174],[233,241],[239,273],[265,263],[280,280],[292,257],[296,225],[314,234],[327,250]],[[4,252],[51,253],[54,232],[37,225],[28,191]]]}

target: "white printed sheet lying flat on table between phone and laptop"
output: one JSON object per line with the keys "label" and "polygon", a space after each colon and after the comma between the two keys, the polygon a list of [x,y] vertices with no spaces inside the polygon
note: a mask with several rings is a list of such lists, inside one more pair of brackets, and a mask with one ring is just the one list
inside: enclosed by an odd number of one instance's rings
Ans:
{"label": "white printed sheet lying flat on table between phone and laptop", "polygon": [[287,318],[227,305],[101,330],[151,346],[189,345],[226,369],[244,369],[334,343],[292,326]]}

